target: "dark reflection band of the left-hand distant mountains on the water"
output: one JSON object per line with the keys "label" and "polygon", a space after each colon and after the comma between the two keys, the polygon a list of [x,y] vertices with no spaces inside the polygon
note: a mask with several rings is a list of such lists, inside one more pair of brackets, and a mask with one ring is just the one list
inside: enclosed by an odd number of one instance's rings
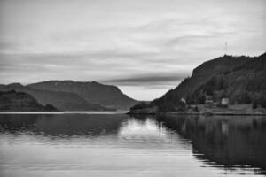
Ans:
{"label": "dark reflection band of the left-hand distant mountains on the water", "polygon": [[127,116],[118,115],[0,115],[1,132],[33,132],[51,136],[116,134]]}

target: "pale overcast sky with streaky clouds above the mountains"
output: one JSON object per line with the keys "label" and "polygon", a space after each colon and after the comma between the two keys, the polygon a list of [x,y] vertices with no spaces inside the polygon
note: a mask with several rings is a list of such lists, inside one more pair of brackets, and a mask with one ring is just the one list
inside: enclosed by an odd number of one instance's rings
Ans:
{"label": "pale overcast sky with streaky clouds above the mountains", "polygon": [[265,0],[0,0],[4,84],[99,81],[152,100],[204,61],[265,51]]}

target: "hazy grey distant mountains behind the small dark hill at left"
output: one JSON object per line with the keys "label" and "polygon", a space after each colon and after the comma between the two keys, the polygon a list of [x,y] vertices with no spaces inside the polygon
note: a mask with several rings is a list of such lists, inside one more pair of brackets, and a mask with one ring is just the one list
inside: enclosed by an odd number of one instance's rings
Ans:
{"label": "hazy grey distant mountains behind the small dark hill at left", "polygon": [[43,81],[26,86],[20,83],[0,85],[0,90],[17,90],[35,97],[40,104],[52,104],[62,111],[129,109],[137,101],[116,86],[96,81]]}

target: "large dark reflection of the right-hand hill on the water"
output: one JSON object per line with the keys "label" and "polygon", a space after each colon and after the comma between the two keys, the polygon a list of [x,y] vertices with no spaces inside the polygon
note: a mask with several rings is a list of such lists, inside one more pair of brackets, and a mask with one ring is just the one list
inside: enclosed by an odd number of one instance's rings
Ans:
{"label": "large dark reflection of the right-hand hill on the water", "polygon": [[200,160],[228,170],[254,167],[255,173],[266,174],[265,117],[162,116],[158,119],[165,127],[191,140],[193,154]]}

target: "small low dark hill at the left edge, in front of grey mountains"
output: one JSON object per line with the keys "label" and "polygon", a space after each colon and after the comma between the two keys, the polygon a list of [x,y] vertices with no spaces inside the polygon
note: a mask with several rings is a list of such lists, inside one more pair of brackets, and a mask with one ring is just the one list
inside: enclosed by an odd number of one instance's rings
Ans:
{"label": "small low dark hill at the left edge, in front of grey mountains", "polygon": [[47,112],[57,111],[51,104],[43,106],[24,92],[0,91],[0,112]]}

